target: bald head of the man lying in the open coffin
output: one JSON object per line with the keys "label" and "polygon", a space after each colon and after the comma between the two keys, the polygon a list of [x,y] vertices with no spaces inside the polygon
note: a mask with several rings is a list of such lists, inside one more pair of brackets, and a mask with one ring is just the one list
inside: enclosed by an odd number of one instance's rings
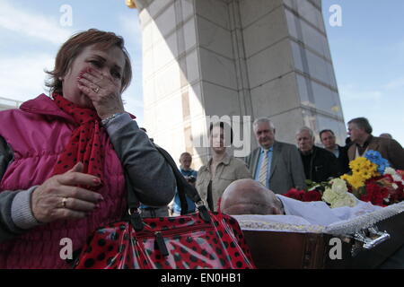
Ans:
{"label": "bald head of the man lying in the open coffin", "polygon": [[224,190],[220,202],[223,213],[238,214],[283,214],[275,194],[252,179],[233,181]]}

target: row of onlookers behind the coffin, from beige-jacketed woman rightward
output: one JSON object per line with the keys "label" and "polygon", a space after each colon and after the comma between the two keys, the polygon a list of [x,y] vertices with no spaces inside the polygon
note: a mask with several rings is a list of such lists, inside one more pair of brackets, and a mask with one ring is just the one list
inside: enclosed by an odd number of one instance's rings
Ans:
{"label": "row of onlookers behind the coffin, from beige-jacketed woman rightward", "polygon": [[[323,129],[319,133],[323,145],[320,147],[315,145],[315,135],[307,126],[296,132],[296,145],[278,142],[276,128],[268,117],[259,117],[252,127],[259,147],[244,159],[248,171],[241,161],[229,157],[224,147],[213,147],[212,159],[198,171],[198,175],[203,174],[203,178],[197,178],[198,192],[212,211],[217,211],[217,204],[209,203],[212,198],[220,198],[225,188],[237,179],[252,178],[263,187],[282,195],[290,188],[305,188],[306,179],[320,183],[329,178],[338,178],[349,172],[349,161],[368,150],[381,152],[392,168],[404,169],[404,150],[400,143],[385,136],[373,136],[372,126],[365,117],[348,122],[345,146],[337,144],[331,129]],[[221,132],[224,132],[223,128]],[[212,127],[210,135],[211,144],[215,144],[212,142],[216,136],[212,134]]]}

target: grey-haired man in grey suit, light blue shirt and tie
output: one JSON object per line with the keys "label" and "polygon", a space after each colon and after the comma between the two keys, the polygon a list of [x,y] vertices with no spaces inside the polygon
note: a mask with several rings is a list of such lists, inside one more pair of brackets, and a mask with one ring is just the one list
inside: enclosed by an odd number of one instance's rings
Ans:
{"label": "grey-haired man in grey suit, light blue shirt and tie", "polygon": [[275,127],[268,117],[252,124],[259,147],[245,159],[252,178],[277,194],[305,188],[303,163],[293,144],[275,140]]}

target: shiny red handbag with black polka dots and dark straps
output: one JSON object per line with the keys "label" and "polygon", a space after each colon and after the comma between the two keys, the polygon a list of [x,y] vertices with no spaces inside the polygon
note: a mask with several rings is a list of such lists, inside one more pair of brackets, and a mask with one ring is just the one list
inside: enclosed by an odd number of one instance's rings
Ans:
{"label": "shiny red handbag with black polka dots and dark straps", "polygon": [[[206,209],[168,152],[157,147],[175,174],[181,215],[142,218],[139,201],[128,186],[128,214],[95,230],[83,247],[75,268],[96,269],[241,269],[255,268],[242,230],[233,217]],[[198,207],[184,214],[187,194]]]}

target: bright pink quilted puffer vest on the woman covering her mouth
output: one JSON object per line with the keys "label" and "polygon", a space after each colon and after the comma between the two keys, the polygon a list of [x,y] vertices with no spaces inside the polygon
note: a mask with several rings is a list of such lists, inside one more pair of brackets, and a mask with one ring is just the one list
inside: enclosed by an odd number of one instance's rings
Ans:
{"label": "bright pink quilted puffer vest on the woman covering her mouth", "polygon": [[[43,94],[26,101],[20,109],[0,112],[0,135],[14,153],[14,160],[0,183],[0,192],[28,189],[50,178],[74,129],[72,117]],[[60,245],[61,239],[72,239],[73,250],[82,248],[93,230],[121,218],[126,209],[122,166],[106,132],[101,143],[108,147],[105,185],[99,191],[105,199],[101,208],[83,220],[44,224],[0,244],[0,268],[68,268],[59,255],[65,247]]]}

